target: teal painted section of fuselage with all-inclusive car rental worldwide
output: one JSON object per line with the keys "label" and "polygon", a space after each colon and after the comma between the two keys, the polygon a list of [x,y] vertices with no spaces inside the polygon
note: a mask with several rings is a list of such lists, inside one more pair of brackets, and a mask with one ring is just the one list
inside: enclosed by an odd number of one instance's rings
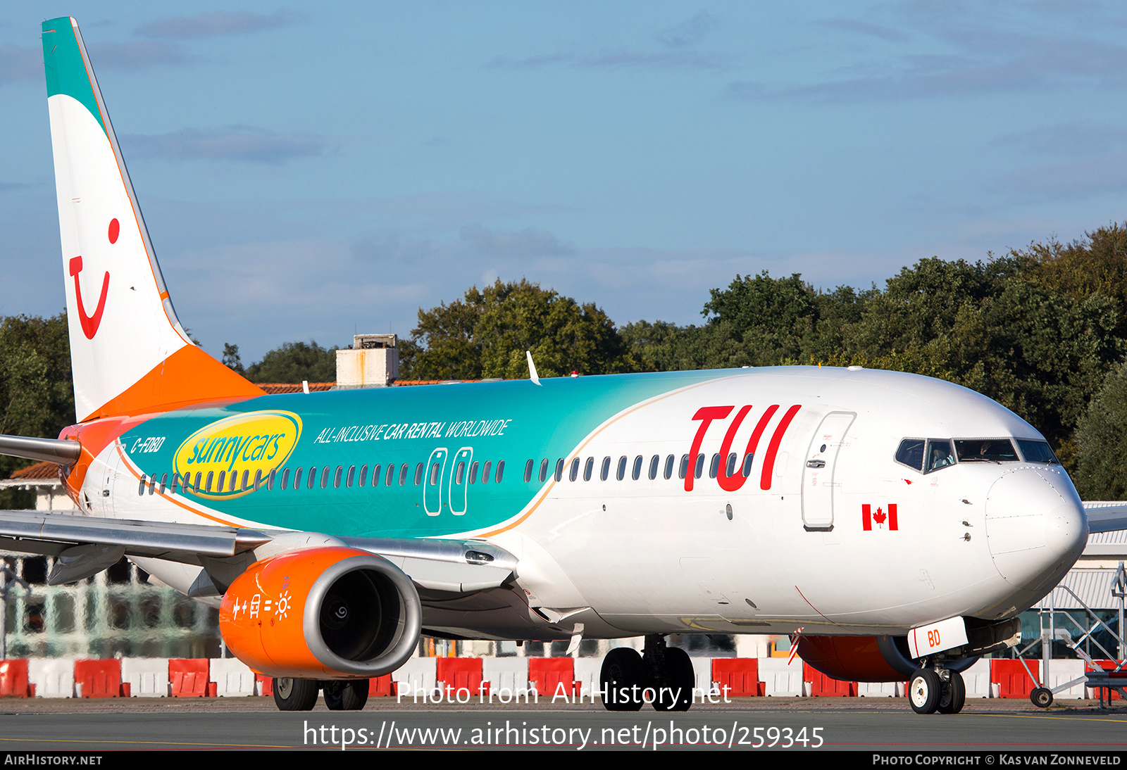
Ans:
{"label": "teal painted section of fuselage with all-inclusive car rental worldwide", "polygon": [[[276,475],[281,478],[282,468],[290,469],[287,489],[278,489],[276,483],[273,490],[264,486],[230,499],[206,499],[190,491],[185,496],[232,517],[289,529],[337,536],[441,536],[485,529],[511,519],[548,483],[539,481],[541,459],[550,458],[554,471],[557,458],[568,457],[586,436],[619,412],[726,374],[733,373],[551,378],[541,380],[540,386],[529,380],[509,380],[267,395],[220,408],[169,412],[131,429],[122,436],[122,444],[130,460],[159,482],[163,474],[171,478],[181,444],[208,424],[247,413],[293,413],[302,422],[301,438]],[[243,456],[248,457],[256,453],[265,456],[273,449],[273,445],[267,446],[269,436],[264,433],[255,439],[249,431],[246,438],[229,444],[201,439],[181,456],[206,456],[211,463],[207,467],[230,468],[239,474],[241,484],[245,466],[238,460],[229,463],[233,455],[242,447],[246,447]],[[459,458],[459,450],[465,447],[471,448],[472,457],[463,453]],[[438,485],[443,494],[438,514],[428,516],[426,508],[436,509],[437,490],[432,485],[431,496],[425,499],[429,467],[419,485],[415,484],[415,472],[438,448],[446,450]],[[530,458],[535,459],[536,467],[532,481],[525,483],[525,463]],[[218,459],[224,465],[214,465]],[[460,459],[468,460],[467,472],[469,463],[479,463],[479,477],[473,484],[463,477],[462,485],[455,489],[455,507],[462,505],[460,495],[464,489],[465,510],[454,516],[449,493]],[[480,469],[487,460],[492,472],[504,460],[502,483],[492,478],[481,482]],[[399,467],[405,463],[409,468],[401,486]],[[388,464],[397,466],[391,486],[384,483]],[[346,474],[350,466],[358,472],[363,465],[369,466],[363,487],[357,484],[347,487],[344,481],[339,487],[334,486],[338,466]],[[372,485],[375,465],[380,466],[381,477]],[[299,467],[302,483],[293,489],[293,472]],[[310,467],[317,468],[312,489],[308,486]],[[322,489],[325,467],[330,472],[328,485]],[[549,482],[551,478],[549,475]]]}

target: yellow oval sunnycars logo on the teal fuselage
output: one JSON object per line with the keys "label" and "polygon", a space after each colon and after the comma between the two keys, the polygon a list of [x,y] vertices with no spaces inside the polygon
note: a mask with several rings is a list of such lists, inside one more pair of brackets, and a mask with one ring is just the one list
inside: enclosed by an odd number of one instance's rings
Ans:
{"label": "yellow oval sunnycars logo on the teal fuselage", "polygon": [[174,469],[201,498],[241,498],[254,491],[256,475],[265,478],[289,459],[300,438],[301,418],[293,412],[248,412],[213,422],[185,439],[176,450]]}

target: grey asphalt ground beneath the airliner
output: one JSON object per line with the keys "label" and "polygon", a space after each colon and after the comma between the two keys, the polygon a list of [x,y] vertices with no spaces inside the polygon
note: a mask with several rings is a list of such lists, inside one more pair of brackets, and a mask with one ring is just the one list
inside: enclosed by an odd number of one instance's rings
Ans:
{"label": "grey asphalt ground beneath the airliner", "polygon": [[968,700],[957,715],[919,715],[904,698],[734,698],[659,714],[544,698],[520,707],[372,698],[362,711],[329,711],[319,701],[312,711],[281,713],[272,698],[0,700],[6,765],[18,752],[477,747],[1127,754],[1127,707],[1066,700],[1039,709],[997,699]]}

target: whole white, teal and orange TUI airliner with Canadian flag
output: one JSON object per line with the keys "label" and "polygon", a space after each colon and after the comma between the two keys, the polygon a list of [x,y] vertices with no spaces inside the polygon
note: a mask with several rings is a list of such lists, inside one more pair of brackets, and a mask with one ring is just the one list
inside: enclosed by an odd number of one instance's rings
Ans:
{"label": "whole white, teal and orange TUI airliner with Canadian flag", "polygon": [[[1089,523],[1030,424],[937,379],[779,367],[266,395],[177,320],[73,19],[43,24],[76,424],[0,437],[83,516],[0,512],[53,584],[126,556],[220,608],[283,709],[363,707],[420,634],[646,636],[604,704],[687,708],[668,634],[796,634],[841,679],[1020,638]],[[1113,526],[1109,525],[1110,529]]]}

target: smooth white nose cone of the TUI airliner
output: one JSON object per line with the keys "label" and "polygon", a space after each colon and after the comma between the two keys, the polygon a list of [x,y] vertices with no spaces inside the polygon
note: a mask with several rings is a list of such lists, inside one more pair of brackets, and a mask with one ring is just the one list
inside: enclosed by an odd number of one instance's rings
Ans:
{"label": "smooth white nose cone of the TUI airliner", "polygon": [[1088,541],[1088,518],[1064,469],[1020,467],[1002,474],[986,499],[986,539],[1006,582],[1036,594],[1030,601],[1044,596]]}

